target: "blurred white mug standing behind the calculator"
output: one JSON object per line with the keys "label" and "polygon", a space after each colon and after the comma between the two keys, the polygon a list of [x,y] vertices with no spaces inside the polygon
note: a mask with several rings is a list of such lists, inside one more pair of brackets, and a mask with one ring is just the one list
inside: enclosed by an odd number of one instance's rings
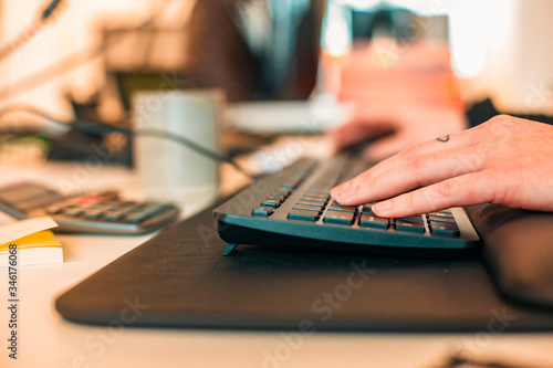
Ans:
{"label": "blurred white mug standing behind the calculator", "polygon": [[[138,92],[133,96],[135,167],[146,199],[212,200],[219,190],[219,162],[164,133],[220,154],[225,93],[221,90]],[[153,136],[154,135],[154,136]]]}

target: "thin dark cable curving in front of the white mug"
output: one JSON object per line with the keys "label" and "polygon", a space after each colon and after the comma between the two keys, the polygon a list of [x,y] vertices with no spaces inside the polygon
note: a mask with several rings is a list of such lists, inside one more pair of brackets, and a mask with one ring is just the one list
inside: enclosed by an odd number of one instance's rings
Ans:
{"label": "thin dark cable curving in front of the white mug", "polygon": [[11,113],[28,113],[31,115],[35,115],[39,117],[42,117],[44,119],[48,119],[49,122],[55,123],[58,125],[62,125],[65,127],[71,127],[75,130],[84,132],[84,133],[90,133],[90,134],[95,134],[95,135],[104,135],[108,133],[119,133],[122,135],[125,135],[127,137],[154,137],[154,138],[166,138],[173,141],[176,141],[187,148],[190,148],[191,150],[196,151],[197,154],[200,154],[204,157],[207,157],[213,161],[218,162],[227,162],[231,165],[234,169],[243,174],[244,176],[249,177],[250,179],[258,180],[259,177],[249,172],[244,168],[242,168],[240,165],[238,165],[234,160],[232,160],[230,157],[226,157],[222,155],[219,155],[208,148],[205,148],[195,141],[179,136],[177,134],[167,132],[167,130],[161,130],[161,129],[128,129],[128,128],[122,128],[122,127],[116,127],[116,126],[111,126],[106,124],[101,124],[101,123],[92,123],[92,122],[86,122],[86,120],[81,120],[81,119],[75,119],[73,122],[65,122],[61,120],[59,118],[53,117],[52,115],[45,113],[44,111],[27,105],[27,104],[13,104],[13,105],[8,105],[6,107],[0,108],[0,118],[2,116],[11,114]]}

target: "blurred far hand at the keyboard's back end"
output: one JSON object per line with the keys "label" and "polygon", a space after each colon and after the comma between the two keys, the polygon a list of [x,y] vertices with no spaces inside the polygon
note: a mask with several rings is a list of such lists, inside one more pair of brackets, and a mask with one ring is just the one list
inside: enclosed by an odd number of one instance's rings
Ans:
{"label": "blurred far hand at the keyboard's back end", "polygon": [[365,101],[349,122],[331,132],[331,137],[340,150],[390,133],[364,151],[367,160],[379,161],[409,146],[468,126],[460,104],[377,98]]}

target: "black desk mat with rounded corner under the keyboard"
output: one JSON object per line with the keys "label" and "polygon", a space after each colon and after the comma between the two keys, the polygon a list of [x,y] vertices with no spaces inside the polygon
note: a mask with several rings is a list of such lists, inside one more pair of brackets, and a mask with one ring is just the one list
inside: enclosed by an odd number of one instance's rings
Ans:
{"label": "black desk mat with rounded corner under the keyboard", "polygon": [[[98,239],[100,241],[100,239]],[[511,305],[478,255],[400,259],[227,244],[208,209],[61,295],[94,325],[358,332],[553,330],[553,313]]]}

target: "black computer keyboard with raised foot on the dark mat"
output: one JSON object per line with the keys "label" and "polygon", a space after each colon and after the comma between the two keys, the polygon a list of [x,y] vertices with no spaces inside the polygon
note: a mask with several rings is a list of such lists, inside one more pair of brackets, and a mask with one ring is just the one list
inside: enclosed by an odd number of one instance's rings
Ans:
{"label": "black computer keyboard with raised foot on the dark mat", "polygon": [[456,256],[480,239],[465,209],[387,219],[372,203],[340,206],[330,197],[337,183],[368,168],[362,160],[301,159],[260,179],[215,209],[219,235],[237,244],[325,246],[414,256]]}

